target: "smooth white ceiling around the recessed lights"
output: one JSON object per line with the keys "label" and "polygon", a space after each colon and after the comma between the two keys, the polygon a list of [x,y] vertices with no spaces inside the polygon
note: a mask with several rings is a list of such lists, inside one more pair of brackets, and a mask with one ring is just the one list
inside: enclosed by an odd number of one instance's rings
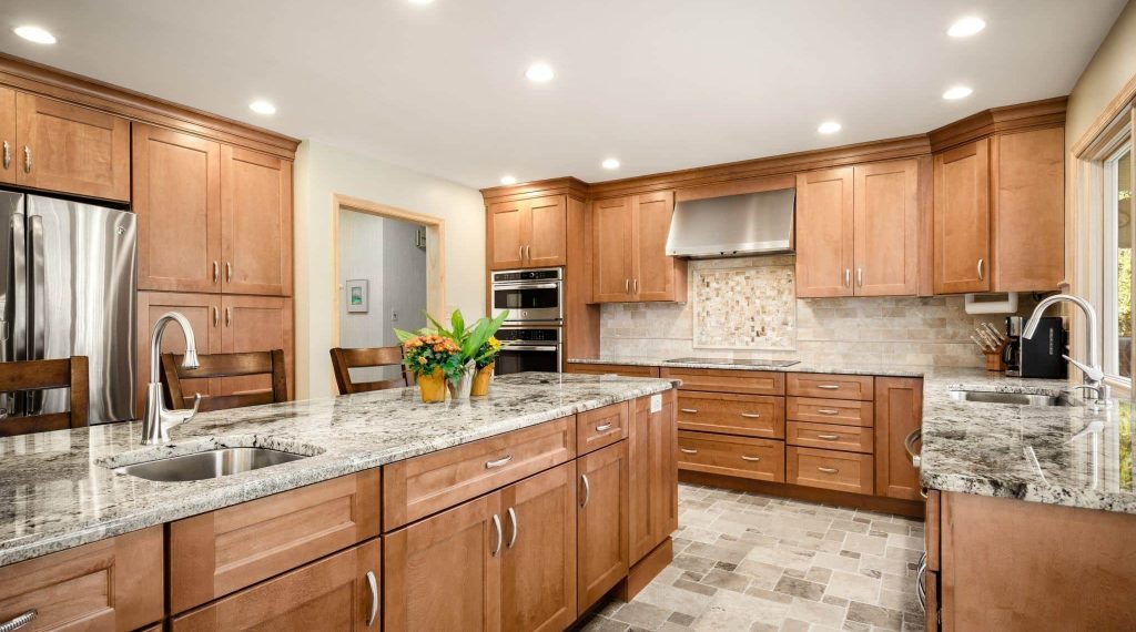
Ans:
{"label": "smooth white ceiling around the recessed lights", "polygon": [[[484,187],[903,136],[1067,94],[1125,0],[0,5],[5,52]],[[987,28],[949,37],[964,15]],[[59,43],[11,33],[28,23]],[[551,84],[525,78],[537,60]],[[974,95],[944,101],[960,83]],[[257,98],[278,112],[249,111]],[[819,135],[825,119],[844,129]]]}

